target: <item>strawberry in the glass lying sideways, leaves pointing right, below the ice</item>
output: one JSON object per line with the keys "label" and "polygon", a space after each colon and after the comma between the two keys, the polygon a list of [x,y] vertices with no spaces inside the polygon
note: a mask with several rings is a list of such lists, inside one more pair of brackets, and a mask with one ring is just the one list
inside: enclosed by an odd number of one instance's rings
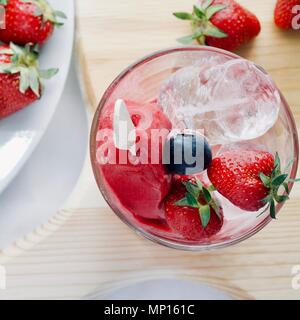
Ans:
{"label": "strawberry in the glass lying sideways, leaves pointing right, below the ice", "polygon": [[278,154],[261,150],[235,150],[213,159],[208,176],[214,187],[234,205],[246,211],[258,211],[269,204],[276,218],[275,202],[288,200],[279,195],[283,186],[289,192],[287,174],[281,172]]}

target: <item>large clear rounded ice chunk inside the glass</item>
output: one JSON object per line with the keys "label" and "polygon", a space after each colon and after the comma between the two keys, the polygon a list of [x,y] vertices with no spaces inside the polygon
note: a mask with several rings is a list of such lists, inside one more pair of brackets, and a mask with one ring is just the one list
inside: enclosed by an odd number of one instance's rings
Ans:
{"label": "large clear rounded ice chunk inside the glass", "polygon": [[264,70],[232,59],[178,70],[164,83],[158,103],[175,128],[202,129],[215,145],[265,134],[281,99]]}

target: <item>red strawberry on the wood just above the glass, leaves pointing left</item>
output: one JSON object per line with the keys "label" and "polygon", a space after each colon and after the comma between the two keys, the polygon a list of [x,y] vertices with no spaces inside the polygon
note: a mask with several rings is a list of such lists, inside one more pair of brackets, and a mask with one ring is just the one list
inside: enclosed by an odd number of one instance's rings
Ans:
{"label": "red strawberry on the wood just above the glass, leaves pointing left", "polygon": [[175,17],[190,20],[194,33],[178,39],[182,44],[200,44],[235,50],[260,33],[257,17],[234,0],[203,0],[193,13],[176,12]]}

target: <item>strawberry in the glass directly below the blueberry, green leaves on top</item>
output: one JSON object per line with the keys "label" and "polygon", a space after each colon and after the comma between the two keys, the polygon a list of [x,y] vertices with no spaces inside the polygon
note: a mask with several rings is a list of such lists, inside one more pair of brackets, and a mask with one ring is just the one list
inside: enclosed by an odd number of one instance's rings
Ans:
{"label": "strawberry in the glass directly below the blueberry, green leaves on top", "polygon": [[183,180],[165,200],[165,215],[170,228],[188,241],[206,241],[223,225],[222,210],[200,180]]}

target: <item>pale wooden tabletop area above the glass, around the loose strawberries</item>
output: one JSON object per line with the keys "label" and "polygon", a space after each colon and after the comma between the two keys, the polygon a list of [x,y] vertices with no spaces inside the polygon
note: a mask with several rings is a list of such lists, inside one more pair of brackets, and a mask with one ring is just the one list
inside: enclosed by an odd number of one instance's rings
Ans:
{"label": "pale wooden tabletop area above the glass, around the loose strawberries", "polygon": [[[88,98],[97,106],[103,91],[130,63],[150,52],[176,46],[190,33],[173,11],[190,11],[193,0],[77,1],[79,49]],[[275,0],[240,0],[262,24],[256,40],[237,53],[263,66],[281,88],[300,121],[300,33],[284,32],[273,23]]]}

